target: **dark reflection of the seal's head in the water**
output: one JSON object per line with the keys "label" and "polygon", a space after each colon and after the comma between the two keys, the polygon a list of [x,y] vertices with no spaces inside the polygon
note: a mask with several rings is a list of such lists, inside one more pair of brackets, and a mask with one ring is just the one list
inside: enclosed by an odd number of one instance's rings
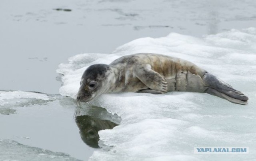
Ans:
{"label": "dark reflection of the seal's head in the water", "polygon": [[[79,128],[80,137],[86,145],[93,148],[100,148],[98,145],[100,139],[98,131],[113,129],[118,124],[110,120],[115,119],[116,122],[120,120],[116,114],[112,115],[102,107],[90,107],[89,109],[91,108],[92,110],[86,112],[86,115],[76,115],[76,125]],[[93,111],[93,109],[96,110]]]}

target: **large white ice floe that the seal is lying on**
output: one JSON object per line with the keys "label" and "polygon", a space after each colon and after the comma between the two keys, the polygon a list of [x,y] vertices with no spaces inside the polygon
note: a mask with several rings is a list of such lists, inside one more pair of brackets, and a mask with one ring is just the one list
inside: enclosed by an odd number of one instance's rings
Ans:
{"label": "large white ice floe that the seal is lying on", "polygon": [[[92,103],[117,113],[122,121],[99,132],[113,146],[94,151],[91,161],[106,160],[253,160],[256,158],[256,29],[230,30],[203,38],[171,33],[140,38],[112,54],[80,54],[60,64],[60,94],[75,97],[84,70],[124,55],[150,52],[189,60],[248,95],[237,105],[205,93],[103,94]],[[246,155],[196,155],[195,146],[244,146]]]}

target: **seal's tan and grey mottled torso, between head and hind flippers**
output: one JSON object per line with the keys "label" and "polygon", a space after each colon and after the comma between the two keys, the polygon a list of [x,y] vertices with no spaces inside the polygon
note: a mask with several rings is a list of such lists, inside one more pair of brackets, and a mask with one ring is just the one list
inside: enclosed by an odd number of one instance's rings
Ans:
{"label": "seal's tan and grey mottled torso, between head and hind flippers", "polygon": [[204,92],[207,85],[202,80],[205,70],[195,64],[160,54],[134,54],[121,57],[110,65],[119,69],[113,91],[155,89],[168,91]]}

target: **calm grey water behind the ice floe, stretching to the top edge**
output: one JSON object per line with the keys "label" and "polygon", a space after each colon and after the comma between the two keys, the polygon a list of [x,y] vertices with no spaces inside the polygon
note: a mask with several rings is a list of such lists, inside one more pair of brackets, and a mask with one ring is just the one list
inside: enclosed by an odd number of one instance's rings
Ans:
{"label": "calm grey water behind the ice floe, stretching to the top edge", "polygon": [[1,0],[0,89],[57,94],[55,70],[70,56],[170,32],[253,27],[255,10],[254,0]]}

